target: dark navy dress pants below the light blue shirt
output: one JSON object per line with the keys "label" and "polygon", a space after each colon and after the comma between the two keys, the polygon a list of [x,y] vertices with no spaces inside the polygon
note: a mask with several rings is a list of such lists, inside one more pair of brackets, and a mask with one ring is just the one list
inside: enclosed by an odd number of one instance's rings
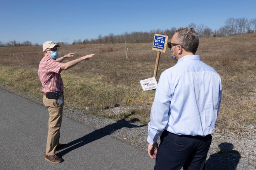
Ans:
{"label": "dark navy dress pants below the light blue shirt", "polygon": [[211,134],[176,135],[164,130],[154,170],[204,170],[211,138]]}

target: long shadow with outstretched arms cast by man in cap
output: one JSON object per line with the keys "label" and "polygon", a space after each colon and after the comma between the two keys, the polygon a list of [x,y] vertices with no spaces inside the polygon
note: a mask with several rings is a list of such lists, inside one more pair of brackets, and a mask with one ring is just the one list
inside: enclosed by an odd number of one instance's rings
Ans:
{"label": "long shadow with outstretched arms cast by man in cap", "polygon": [[140,126],[131,124],[133,122],[139,121],[139,119],[136,119],[136,118],[131,119],[130,121],[126,121],[125,119],[128,118],[129,116],[131,116],[132,114],[134,114],[134,113],[131,112],[130,114],[125,116],[123,119],[121,119],[113,124],[109,124],[109,125],[105,126],[104,128],[97,129],[89,134],[86,134],[85,136],[83,136],[81,138],[78,138],[74,141],[67,143],[67,148],[65,150],[62,150],[61,152],[57,153],[56,155],[59,157],[62,157],[63,155],[66,155],[67,153],[69,153],[72,150],[80,148],[81,146],[84,146],[90,142],[97,140],[97,139],[103,138],[104,136],[110,135],[114,131],[121,129],[121,128],[139,128],[139,127],[146,126],[146,124],[143,124]]}

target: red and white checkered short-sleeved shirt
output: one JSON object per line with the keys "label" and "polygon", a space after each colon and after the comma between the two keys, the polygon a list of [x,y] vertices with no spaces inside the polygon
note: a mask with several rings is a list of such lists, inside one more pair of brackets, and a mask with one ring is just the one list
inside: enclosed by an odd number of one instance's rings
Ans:
{"label": "red and white checkered short-sleeved shirt", "polygon": [[43,86],[43,92],[63,92],[61,65],[62,63],[48,56],[42,58],[38,68],[38,76]]}

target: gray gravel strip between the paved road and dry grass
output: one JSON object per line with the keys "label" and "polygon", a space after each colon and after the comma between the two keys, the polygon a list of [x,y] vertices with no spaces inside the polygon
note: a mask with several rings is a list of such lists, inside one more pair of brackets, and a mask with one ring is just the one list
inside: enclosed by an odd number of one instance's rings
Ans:
{"label": "gray gravel strip between the paved road and dry grass", "polygon": [[[109,115],[127,112],[131,107],[115,107],[107,110]],[[104,110],[106,112],[106,110]],[[79,110],[64,108],[64,115],[78,122],[98,129],[107,135],[124,141],[147,152],[147,124],[114,121],[90,116]],[[213,131],[211,147],[206,159],[207,170],[255,170],[256,138],[255,126],[244,125],[240,129],[229,130],[216,127]],[[159,143],[159,142],[158,142]]]}

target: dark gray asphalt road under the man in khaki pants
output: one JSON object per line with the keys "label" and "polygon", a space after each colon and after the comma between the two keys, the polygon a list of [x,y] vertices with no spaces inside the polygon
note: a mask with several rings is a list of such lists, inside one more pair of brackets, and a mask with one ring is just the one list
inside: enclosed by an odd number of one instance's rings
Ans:
{"label": "dark gray asphalt road under the man in khaki pants", "polygon": [[47,108],[0,88],[0,170],[150,170],[146,151],[63,116],[59,164],[45,161]]}

